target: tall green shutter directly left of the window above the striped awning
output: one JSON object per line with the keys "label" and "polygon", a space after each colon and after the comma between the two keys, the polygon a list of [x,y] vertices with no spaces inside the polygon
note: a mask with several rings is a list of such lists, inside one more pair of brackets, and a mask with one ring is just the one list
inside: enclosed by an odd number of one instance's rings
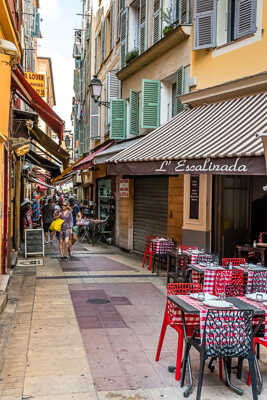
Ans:
{"label": "tall green shutter directly left of the window above the striped awning", "polygon": [[157,128],[160,125],[160,81],[142,80],[141,127]]}

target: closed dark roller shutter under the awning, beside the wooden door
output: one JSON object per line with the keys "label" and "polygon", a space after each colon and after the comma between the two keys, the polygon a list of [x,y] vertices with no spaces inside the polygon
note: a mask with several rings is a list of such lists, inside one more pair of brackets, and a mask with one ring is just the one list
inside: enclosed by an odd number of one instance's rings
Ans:
{"label": "closed dark roller shutter under the awning, beside the wooden door", "polygon": [[168,177],[137,177],[134,182],[134,250],[144,252],[146,236],[166,235]]}

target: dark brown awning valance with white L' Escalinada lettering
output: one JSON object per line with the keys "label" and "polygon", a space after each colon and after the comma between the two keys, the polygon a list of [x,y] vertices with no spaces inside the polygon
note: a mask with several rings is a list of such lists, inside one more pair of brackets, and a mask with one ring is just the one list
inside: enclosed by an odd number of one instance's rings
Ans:
{"label": "dark brown awning valance with white L' Escalinada lettering", "polygon": [[261,157],[205,158],[108,164],[110,175],[266,175]]}

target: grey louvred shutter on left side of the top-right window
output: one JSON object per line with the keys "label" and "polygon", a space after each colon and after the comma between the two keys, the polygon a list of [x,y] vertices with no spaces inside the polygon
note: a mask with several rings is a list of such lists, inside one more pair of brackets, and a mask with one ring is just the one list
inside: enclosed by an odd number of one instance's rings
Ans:
{"label": "grey louvred shutter on left side of the top-right window", "polygon": [[195,0],[194,50],[216,46],[217,0]]}

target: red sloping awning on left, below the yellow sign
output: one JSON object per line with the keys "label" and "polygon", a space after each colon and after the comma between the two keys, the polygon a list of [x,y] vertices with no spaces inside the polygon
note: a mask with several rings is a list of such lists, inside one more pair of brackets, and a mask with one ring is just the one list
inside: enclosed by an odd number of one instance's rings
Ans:
{"label": "red sloping awning on left, below the yellow sign", "polygon": [[40,115],[44,122],[63,140],[64,121],[39,96],[28,83],[19,68],[12,71],[12,85],[25,98],[29,105]]}

